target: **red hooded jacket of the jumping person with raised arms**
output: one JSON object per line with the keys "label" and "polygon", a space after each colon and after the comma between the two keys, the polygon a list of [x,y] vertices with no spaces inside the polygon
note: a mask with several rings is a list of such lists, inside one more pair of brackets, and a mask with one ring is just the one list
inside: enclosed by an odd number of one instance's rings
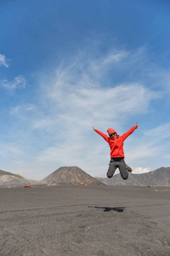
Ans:
{"label": "red hooded jacket of the jumping person with raised arms", "polygon": [[[122,136],[117,136],[116,138],[107,137],[107,135],[105,133],[103,133],[101,131],[98,131],[96,129],[94,131],[99,133],[99,135],[101,137],[103,137],[107,143],[109,143],[110,148],[111,148],[111,158],[114,158],[114,157],[125,157],[124,152],[123,152],[124,140],[126,140],[126,138],[131,133],[133,133],[133,131],[135,129],[137,129],[137,127],[138,127],[137,125],[133,126],[129,131],[125,132]],[[108,131],[109,135],[111,134],[111,131],[116,132],[115,130],[113,130],[111,128],[109,128],[107,131]]]}

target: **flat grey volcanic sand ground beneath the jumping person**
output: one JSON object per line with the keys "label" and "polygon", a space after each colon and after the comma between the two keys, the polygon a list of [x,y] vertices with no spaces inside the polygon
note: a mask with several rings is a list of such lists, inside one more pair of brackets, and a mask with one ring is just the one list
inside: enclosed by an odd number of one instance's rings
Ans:
{"label": "flat grey volcanic sand ground beneath the jumping person", "polygon": [[170,188],[0,189],[1,256],[170,255]]}

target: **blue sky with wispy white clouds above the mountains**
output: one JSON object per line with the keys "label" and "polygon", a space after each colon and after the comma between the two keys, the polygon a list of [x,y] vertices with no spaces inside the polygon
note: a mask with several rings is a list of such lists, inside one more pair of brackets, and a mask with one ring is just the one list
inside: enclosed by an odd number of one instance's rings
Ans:
{"label": "blue sky with wispy white clouds above the mountains", "polygon": [[0,169],[105,177],[119,134],[133,173],[170,162],[170,3],[0,1]]}

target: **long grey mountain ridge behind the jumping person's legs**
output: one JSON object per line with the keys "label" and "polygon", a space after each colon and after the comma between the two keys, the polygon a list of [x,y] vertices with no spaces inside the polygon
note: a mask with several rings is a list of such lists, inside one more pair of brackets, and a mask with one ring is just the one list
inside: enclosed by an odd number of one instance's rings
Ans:
{"label": "long grey mountain ridge behind the jumping person's legs", "polygon": [[133,174],[129,173],[127,180],[120,174],[108,177],[95,177],[106,185],[118,186],[170,186],[170,167],[161,167],[152,172]]}

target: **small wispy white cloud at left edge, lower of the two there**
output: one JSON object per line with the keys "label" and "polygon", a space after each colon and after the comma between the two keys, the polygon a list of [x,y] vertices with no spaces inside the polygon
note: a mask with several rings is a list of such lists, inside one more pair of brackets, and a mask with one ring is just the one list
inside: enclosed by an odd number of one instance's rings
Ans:
{"label": "small wispy white cloud at left edge, lower of the two there", "polygon": [[3,81],[1,81],[1,86],[6,90],[26,88],[26,79],[23,76],[15,77],[12,82],[9,82],[7,79],[3,79]]}

